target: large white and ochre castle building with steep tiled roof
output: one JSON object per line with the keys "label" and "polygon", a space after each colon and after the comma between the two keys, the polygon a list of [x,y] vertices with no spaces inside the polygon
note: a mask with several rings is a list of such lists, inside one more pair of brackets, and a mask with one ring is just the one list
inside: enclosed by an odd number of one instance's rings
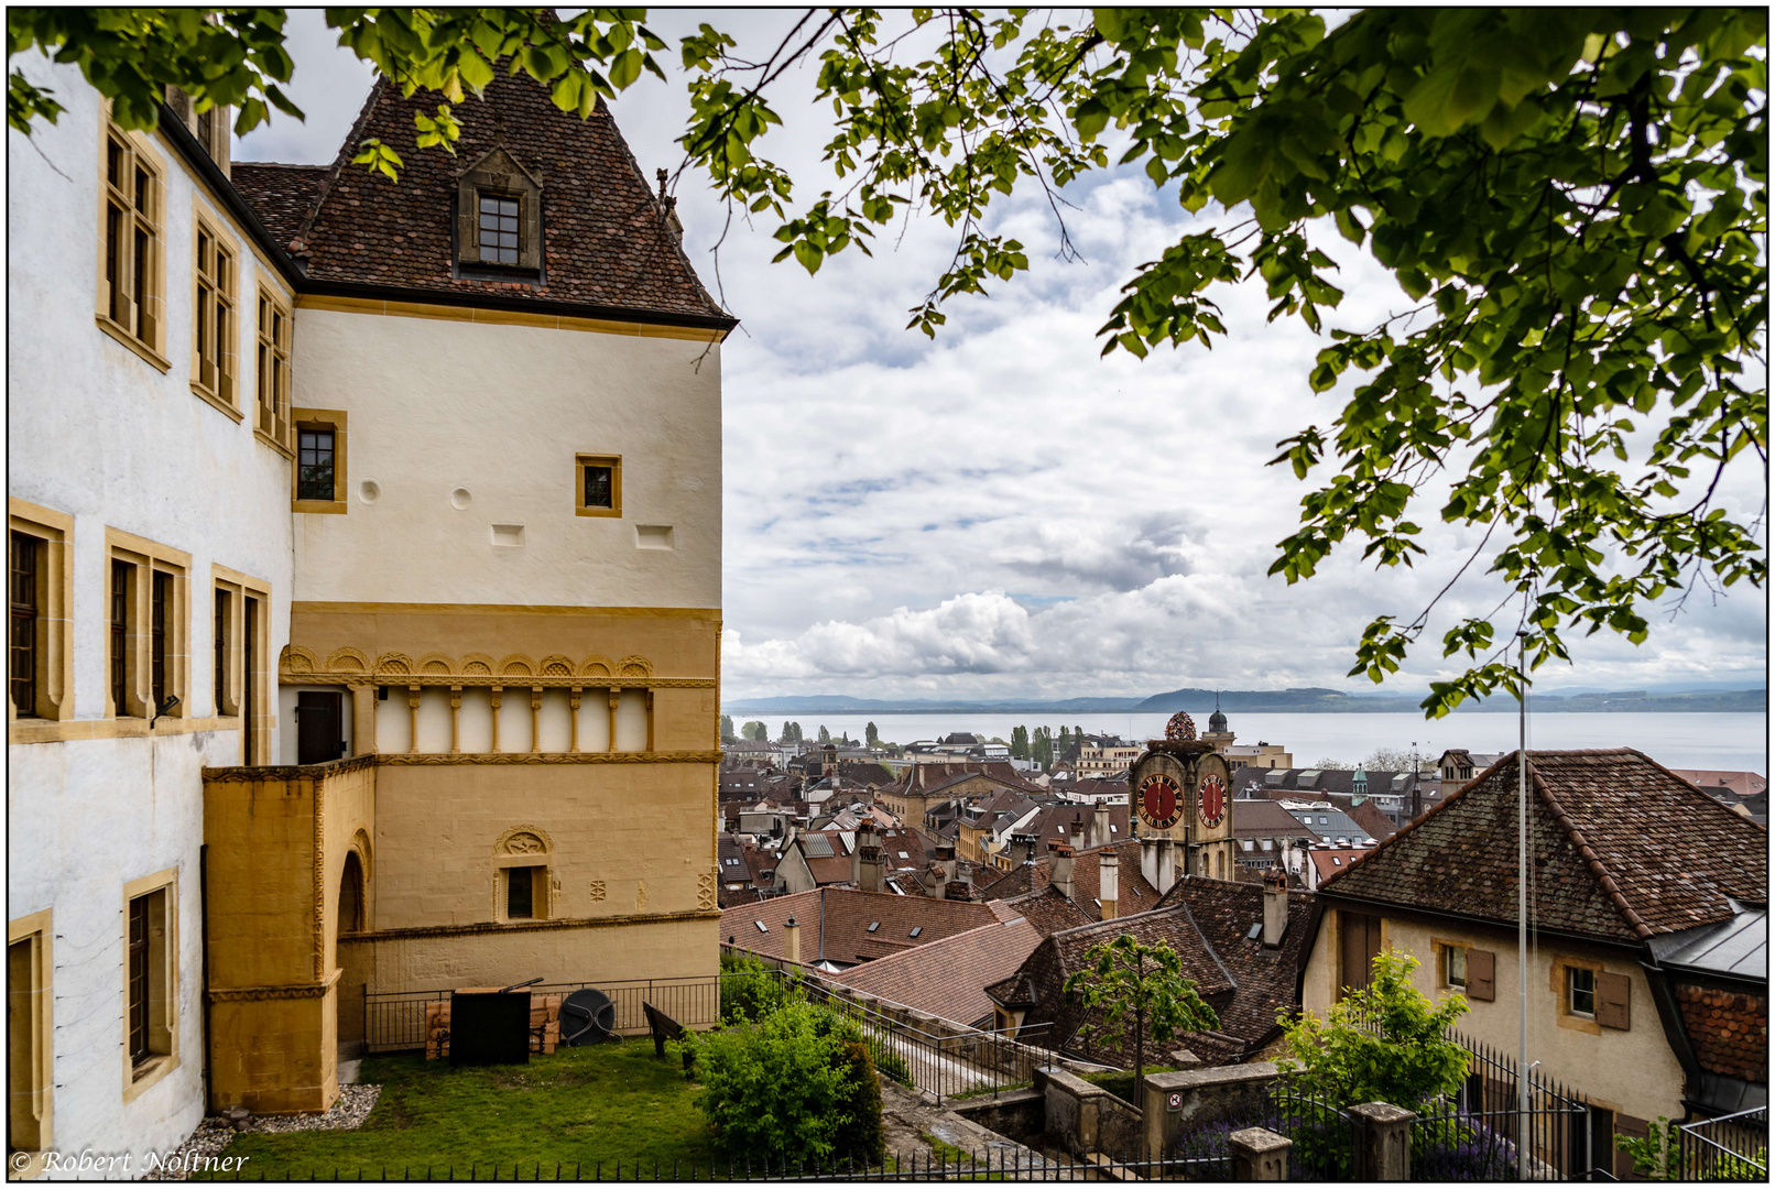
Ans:
{"label": "large white and ochre castle building with steep tiled roof", "polygon": [[737,321],[609,106],[497,69],[414,151],[380,80],[257,163],[20,69],[9,1146],[327,1111],[366,994],[712,978]]}

